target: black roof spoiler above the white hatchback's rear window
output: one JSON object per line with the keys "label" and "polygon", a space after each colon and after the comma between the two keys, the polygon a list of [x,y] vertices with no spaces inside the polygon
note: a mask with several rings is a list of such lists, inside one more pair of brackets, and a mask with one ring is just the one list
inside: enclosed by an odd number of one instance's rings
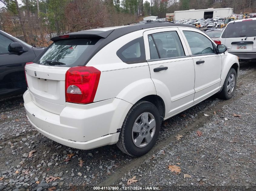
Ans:
{"label": "black roof spoiler above the white hatchback's rear window", "polygon": [[74,32],[74,33],[68,33],[64,35],[59,35],[52,37],[51,40],[57,41],[57,40],[63,40],[63,39],[78,39],[78,38],[107,38],[113,30],[107,30],[107,31],[102,31],[102,30],[83,30],[79,32]]}

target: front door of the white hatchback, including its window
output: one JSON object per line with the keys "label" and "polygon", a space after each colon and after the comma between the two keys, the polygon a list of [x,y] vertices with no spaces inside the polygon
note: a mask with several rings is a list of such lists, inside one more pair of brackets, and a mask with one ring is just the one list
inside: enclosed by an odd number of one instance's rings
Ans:
{"label": "front door of the white hatchback, including its window", "polygon": [[194,104],[210,97],[220,89],[221,55],[215,52],[210,37],[197,29],[180,28],[189,54],[194,61]]}

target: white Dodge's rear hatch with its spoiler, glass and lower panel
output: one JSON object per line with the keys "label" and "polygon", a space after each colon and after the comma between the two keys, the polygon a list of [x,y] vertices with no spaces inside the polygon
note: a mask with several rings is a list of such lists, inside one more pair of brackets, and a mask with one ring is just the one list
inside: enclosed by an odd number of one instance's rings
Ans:
{"label": "white Dodge's rear hatch with its spoiler, glass and lower panel", "polygon": [[[25,66],[25,76],[33,103],[44,110],[60,114],[66,103],[67,71],[70,68],[85,67],[86,61],[97,51],[98,43],[111,32],[89,31],[89,34],[70,33],[53,37],[54,42],[45,52],[36,58],[34,63],[27,63]],[[77,74],[73,76],[75,75]],[[76,86],[73,85],[69,91],[77,90],[73,87]]]}

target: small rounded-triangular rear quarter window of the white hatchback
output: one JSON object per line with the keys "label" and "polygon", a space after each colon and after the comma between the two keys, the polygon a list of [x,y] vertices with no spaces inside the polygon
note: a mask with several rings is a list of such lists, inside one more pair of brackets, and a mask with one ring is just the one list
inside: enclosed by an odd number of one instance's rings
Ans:
{"label": "small rounded-triangular rear quarter window of the white hatchback", "polygon": [[116,54],[127,64],[146,62],[143,37],[139,37],[125,44],[116,52]]}

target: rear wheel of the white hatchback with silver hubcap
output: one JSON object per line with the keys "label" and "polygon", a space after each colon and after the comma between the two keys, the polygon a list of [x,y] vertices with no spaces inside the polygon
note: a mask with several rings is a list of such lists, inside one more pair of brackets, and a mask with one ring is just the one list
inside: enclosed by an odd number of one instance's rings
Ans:
{"label": "rear wheel of the white hatchback with silver hubcap", "polygon": [[[148,116],[150,121],[146,121],[145,116]],[[154,120],[155,124],[153,123]],[[160,114],[153,103],[147,101],[136,103],[125,117],[117,142],[118,148],[125,154],[134,157],[146,154],[157,141],[160,125]]]}

